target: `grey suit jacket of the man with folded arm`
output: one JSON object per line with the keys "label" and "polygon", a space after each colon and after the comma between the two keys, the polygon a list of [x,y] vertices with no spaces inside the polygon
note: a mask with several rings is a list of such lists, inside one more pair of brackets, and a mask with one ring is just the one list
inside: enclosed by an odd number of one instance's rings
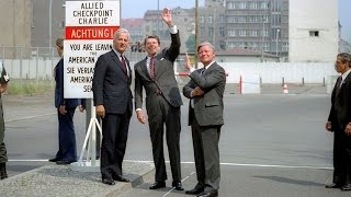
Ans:
{"label": "grey suit jacket of the man with folded arm", "polygon": [[[194,100],[194,115],[200,126],[224,125],[225,70],[217,62],[214,62],[203,74],[201,74],[202,69],[190,74],[191,81],[183,86],[183,94],[185,97]],[[204,94],[191,97],[191,92],[196,86],[200,86]],[[192,109],[191,103],[189,103],[189,109]],[[189,125],[191,125],[191,113],[189,115]]]}

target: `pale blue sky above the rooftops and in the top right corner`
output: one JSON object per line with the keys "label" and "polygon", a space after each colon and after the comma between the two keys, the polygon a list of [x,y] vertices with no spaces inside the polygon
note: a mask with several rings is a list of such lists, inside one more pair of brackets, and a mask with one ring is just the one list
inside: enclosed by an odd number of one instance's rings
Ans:
{"label": "pale blue sky above the rooftops and in the top right corner", "polygon": [[[143,18],[147,10],[162,10],[163,8],[194,8],[195,0],[121,0],[122,18]],[[351,0],[338,0],[339,20],[342,25],[341,37],[351,43]],[[159,3],[159,4],[158,4]],[[199,0],[199,5],[203,5],[204,0]]]}

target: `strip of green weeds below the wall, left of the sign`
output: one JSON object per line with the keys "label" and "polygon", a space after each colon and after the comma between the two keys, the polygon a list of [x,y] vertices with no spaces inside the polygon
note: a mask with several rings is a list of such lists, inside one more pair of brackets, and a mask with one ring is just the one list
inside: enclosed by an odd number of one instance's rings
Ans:
{"label": "strip of green weeds below the wall, left of the sign", "polygon": [[8,94],[11,95],[35,95],[53,93],[54,82],[50,80],[19,80],[11,79],[8,85]]}

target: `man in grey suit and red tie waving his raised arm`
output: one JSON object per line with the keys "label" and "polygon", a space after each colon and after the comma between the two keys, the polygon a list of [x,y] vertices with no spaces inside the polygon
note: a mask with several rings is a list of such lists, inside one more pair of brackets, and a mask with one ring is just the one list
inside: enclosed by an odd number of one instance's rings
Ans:
{"label": "man in grey suit and red tie waving his raised arm", "polygon": [[146,111],[149,121],[152,155],[156,166],[155,181],[150,189],[166,187],[166,164],[163,155],[163,124],[172,171],[172,186],[182,190],[180,169],[180,106],[183,104],[174,78],[173,62],[180,50],[180,37],[172,22],[171,11],[163,9],[162,19],[170,27],[171,45],[160,51],[160,40],[157,36],[145,39],[147,57],[137,62],[135,70],[135,108],[137,118],[145,124],[143,105],[143,86],[146,91]]}

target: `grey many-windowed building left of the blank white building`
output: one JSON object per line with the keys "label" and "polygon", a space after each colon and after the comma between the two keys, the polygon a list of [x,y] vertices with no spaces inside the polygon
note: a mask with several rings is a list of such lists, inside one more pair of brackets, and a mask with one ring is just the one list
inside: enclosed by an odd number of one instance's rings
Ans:
{"label": "grey many-windowed building left of the blank white building", "polygon": [[205,0],[200,26],[201,39],[220,50],[288,53],[288,0]]}

